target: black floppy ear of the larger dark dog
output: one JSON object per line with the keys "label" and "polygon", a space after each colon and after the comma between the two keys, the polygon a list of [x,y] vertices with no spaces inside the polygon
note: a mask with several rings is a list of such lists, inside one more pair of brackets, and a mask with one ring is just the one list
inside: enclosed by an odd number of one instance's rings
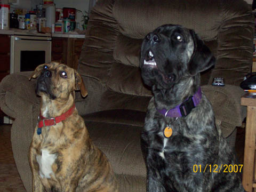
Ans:
{"label": "black floppy ear of the larger dark dog", "polygon": [[215,57],[194,30],[190,30],[190,34],[194,41],[194,52],[188,63],[188,71],[191,76],[195,76],[214,66]]}

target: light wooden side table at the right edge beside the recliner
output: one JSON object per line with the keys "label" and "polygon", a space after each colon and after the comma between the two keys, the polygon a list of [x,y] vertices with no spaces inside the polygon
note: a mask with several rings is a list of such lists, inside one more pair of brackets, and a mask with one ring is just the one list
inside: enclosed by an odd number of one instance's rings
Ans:
{"label": "light wooden side table at the right edge beside the recliner", "polygon": [[243,186],[246,191],[256,192],[256,98],[247,98],[245,94],[241,98],[241,105],[247,106],[244,165],[243,165]]}

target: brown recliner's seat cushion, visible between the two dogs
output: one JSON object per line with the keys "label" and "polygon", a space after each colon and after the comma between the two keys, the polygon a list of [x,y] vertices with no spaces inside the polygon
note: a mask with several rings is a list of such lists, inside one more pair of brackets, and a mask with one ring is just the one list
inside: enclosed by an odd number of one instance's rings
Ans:
{"label": "brown recliner's seat cushion, visible between the two dogs", "polygon": [[85,122],[94,144],[108,157],[116,174],[146,177],[146,166],[140,149],[142,127]]}

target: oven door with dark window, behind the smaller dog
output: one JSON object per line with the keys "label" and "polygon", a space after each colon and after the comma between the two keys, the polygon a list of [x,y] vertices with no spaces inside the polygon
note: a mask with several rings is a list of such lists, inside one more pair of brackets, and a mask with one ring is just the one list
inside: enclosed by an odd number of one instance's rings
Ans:
{"label": "oven door with dark window, behind the smaller dog", "polygon": [[10,73],[33,71],[38,65],[51,62],[51,37],[11,36]]}

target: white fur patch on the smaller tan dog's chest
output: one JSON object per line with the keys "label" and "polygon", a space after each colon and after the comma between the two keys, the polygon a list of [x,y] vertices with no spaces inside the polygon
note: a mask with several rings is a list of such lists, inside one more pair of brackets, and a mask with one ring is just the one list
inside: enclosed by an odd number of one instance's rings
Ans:
{"label": "white fur patch on the smaller tan dog's chest", "polygon": [[36,156],[36,161],[39,164],[39,175],[42,178],[51,178],[51,174],[54,174],[52,171],[52,164],[55,162],[57,155],[50,154],[47,149],[41,150],[42,155]]}

